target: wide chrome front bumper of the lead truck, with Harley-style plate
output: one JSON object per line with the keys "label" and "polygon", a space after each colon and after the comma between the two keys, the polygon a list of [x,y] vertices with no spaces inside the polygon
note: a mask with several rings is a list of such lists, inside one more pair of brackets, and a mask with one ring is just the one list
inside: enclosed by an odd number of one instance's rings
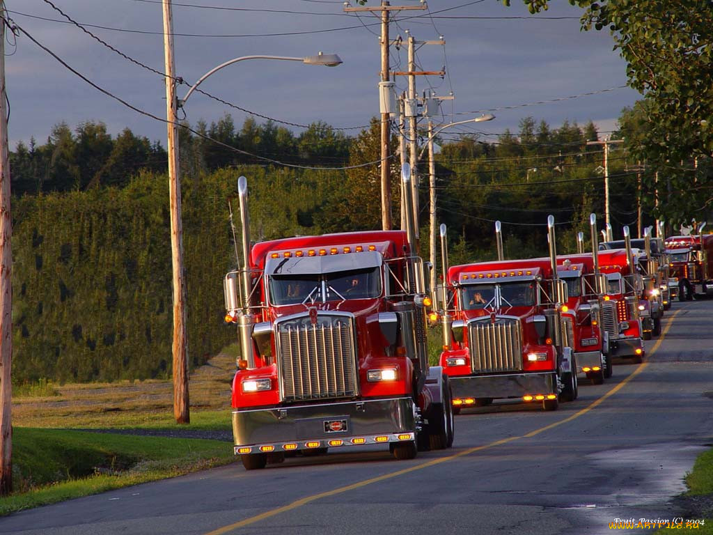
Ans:
{"label": "wide chrome front bumper of the lead truck, with Harley-style plate", "polygon": [[[333,431],[329,428],[332,422],[343,422],[343,429]],[[249,453],[238,451],[247,447],[251,452],[259,452],[265,451],[260,449],[263,446],[272,446],[275,449],[269,451],[282,452],[334,445],[401,442],[406,438],[399,437],[406,434],[413,440],[420,424],[419,410],[411,397],[232,412],[236,454]],[[364,439],[364,442],[352,439]],[[329,444],[339,440],[343,443]],[[287,444],[289,447],[285,448]]]}

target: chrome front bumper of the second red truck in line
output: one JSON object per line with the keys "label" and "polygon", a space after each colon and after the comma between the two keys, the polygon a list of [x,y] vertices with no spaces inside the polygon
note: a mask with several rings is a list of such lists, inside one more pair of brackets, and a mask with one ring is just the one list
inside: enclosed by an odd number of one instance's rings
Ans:
{"label": "chrome front bumper of the second red truck in line", "polygon": [[557,394],[555,372],[451,376],[453,399],[506,399],[527,394]]}

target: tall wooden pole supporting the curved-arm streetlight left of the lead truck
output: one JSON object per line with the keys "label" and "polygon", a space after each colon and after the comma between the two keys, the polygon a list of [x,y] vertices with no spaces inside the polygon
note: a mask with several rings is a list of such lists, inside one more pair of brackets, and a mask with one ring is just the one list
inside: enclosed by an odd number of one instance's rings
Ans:
{"label": "tall wooden pole supporting the curved-arm streetlight left of the lead truck", "polygon": [[171,215],[173,264],[173,416],[178,424],[190,422],[188,409],[188,343],[185,330],[185,279],[183,277],[183,224],[181,223],[178,172],[178,117],[173,61],[171,0],[163,0],[163,50],[166,72],[166,120],[168,127],[168,195]]}

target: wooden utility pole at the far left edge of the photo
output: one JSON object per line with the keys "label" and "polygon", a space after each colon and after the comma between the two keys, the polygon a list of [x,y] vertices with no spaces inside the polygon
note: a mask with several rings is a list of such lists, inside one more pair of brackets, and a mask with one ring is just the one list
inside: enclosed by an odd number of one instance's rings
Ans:
{"label": "wooden utility pole at the far left edge of the photo", "polygon": [[[0,0],[0,14],[5,14]],[[5,95],[5,25],[0,21],[0,496],[12,491],[12,218]]]}

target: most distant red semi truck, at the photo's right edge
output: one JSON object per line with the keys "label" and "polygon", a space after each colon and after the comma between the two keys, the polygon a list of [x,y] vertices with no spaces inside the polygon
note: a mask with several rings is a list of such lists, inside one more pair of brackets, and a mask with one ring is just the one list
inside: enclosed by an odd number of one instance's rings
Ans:
{"label": "most distant red semi truck, at the photo's right edge", "polygon": [[702,228],[697,235],[666,238],[671,282],[681,301],[713,295],[713,235],[701,234]]}

